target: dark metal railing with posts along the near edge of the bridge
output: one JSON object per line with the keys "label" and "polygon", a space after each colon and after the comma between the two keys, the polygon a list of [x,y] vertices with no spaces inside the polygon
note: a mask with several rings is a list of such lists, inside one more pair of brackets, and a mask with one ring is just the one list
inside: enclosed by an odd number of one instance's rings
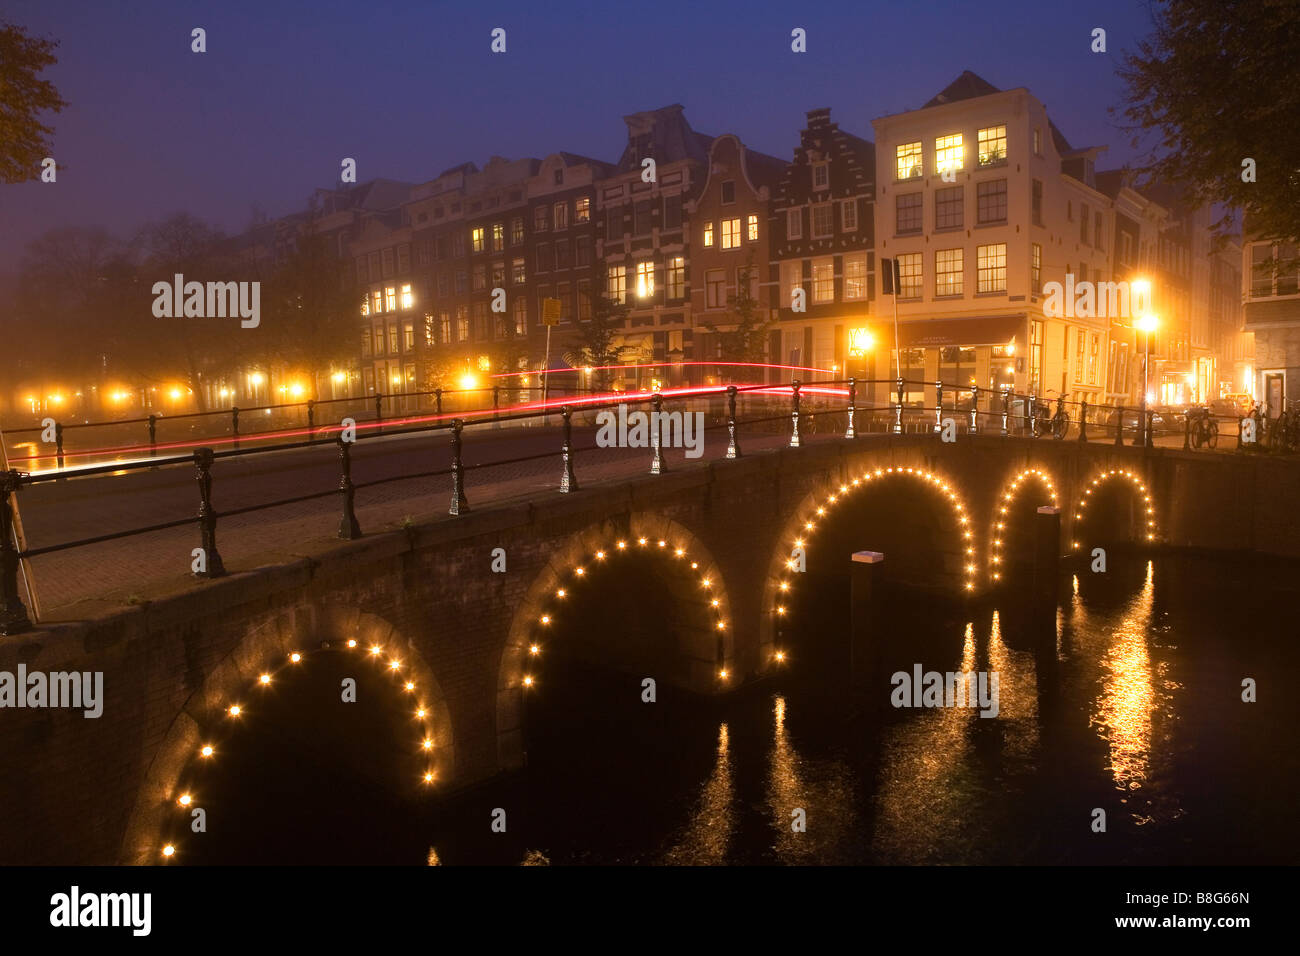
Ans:
{"label": "dark metal railing with posts along the near edge of the bridge", "polygon": [[[909,386],[920,386],[923,390],[933,389],[933,405],[910,402]],[[1108,408],[1106,420],[1098,418],[1102,411],[1087,402],[1057,401],[1056,411],[1044,415],[1043,401],[1035,395],[1022,395],[1008,390],[980,389],[976,386],[957,389],[952,385],[933,381],[916,380],[857,380],[841,378],[805,384],[798,380],[789,384],[759,384],[759,385],[719,385],[697,386],[686,389],[668,389],[666,392],[640,392],[632,394],[598,394],[598,395],[571,395],[549,401],[545,403],[525,403],[525,406],[512,410],[500,405],[500,393],[506,386],[488,389],[493,393],[490,407],[468,410],[464,414],[443,411],[443,398],[446,392],[436,389],[432,395],[436,398],[434,416],[415,418],[389,418],[384,416],[382,399],[377,397],[376,415],[368,421],[343,421],[334,424],[321,424],[315,419],[313,410],[321,402],[308,403],[308,423],[306,433],[278,432],[278,433],[252,433],[240,436],[238,431],[239,410],[231,410],[231,434],[235,441],[226,442],[230,447],[216,449],[212,445],[202,445],[190,449],[187,454],[173,454],[157,457],[157,446],[151,442],[150,457],[143,460],[109,462],[91,464],[79,468],[66,468],[64,450],[58,447],[58,470],[47,473],[30,473],[20,470],[0,471],[0,635],[13,635],[31,627],[27,609],[22,602],[18,589],[20,562],[65,551],[75,548],[86,548],[107,541],[114,541],[138,535],[146,535],[169,528],[178,528],[196,523],[200,538],[200,548],[204,555],[203,571],[196,571],[200,578],[218,578],[225,574],[225,566],[217,546],[217,525],[220,519],[243,515],[254,511],[263,511],[287,505],[296,505],[308,501],[338,496],[339,498],[339,527],[338,537],[356,538],[361,536],[361,527],[356,516],[356,493],[391,481],[406,481],[412,479],[442,477],[450,480],[450,505],[447,512],[452,516],[469,511],[469,493],[467,488],[467,472],[476,470],[520,464],[525,462],[559,458],[560,468],[558,475],[558,490],[569,494],[578,489],[576,460],[580,455],[593,451],[598,445],[576,447],[573,444],[573,419],[578,416],[580,424],[585,419],[592,419],[601,411],[616,408],[618,406],[647,406],[658,415],[650,418],[651,459],[650,475],[663,475],[668,471],[663,457],[663,415],[664,402],[680,405],[685,411],[701,411],[703,405],[710,418],[714,420],[706,424],[706,431],[725,429],[727,451],[725,458],[740,458],[741,432],[750,429],[766,434],[781,434],[786,428],[789,447],[801,447],[811,434],[836,434],[846,438],[855,438],[868,432],[881,432],[889,434],[902,433],[935,433],[945,437],[949,432],[966,434],[991,436],[1027,436],[1034,438],[1065,440],[1074,429],[1074,438],[1080,442],[1102,440],[1113,441],[1115,445],[1124,444],[1124,432],[1130,427],[1130,410]],[[867,389],[862,393],[862,389]],[[480,390],[476,390],[480,392]],[[411,394],[411,393],[408,393]],[[862,403],[862,394],[876,394],[892,401],[875,405]],[[766,412],[750,418],[738,416],[738,402],[744,398],[750,410]],[[719,405],[725,401],[724,406]],[[344,399],[337,399],[344,401]],[[776,406],[774,411],[772,406]],[[693,407],[696,406],[696,407]],[[1070,410],[1074,408],[1076,418],[1071,419]],[[950,414],[946,414],[950,412]],[[1136,432],[1141,431],[1140,441],[1148,447],[1152,446],[1156,433],[1156,412],[1148,410],[1145,427],[1138,421],[1136,410],[1132,410],[1132,425]],[[463,432],[468,427],[477,425],[523,425],[547,424],[559,420],[560,442],[559,447],[551,451],[542,451],[530,455],[506,458],[476,464],[465,464],[463,455]],[[151,437],[153,423],[150,421]],[[1188,420],[1190,421],[1190,420]],[[588,421],[586,424],[590,424]],[[1089,427],[1093,428],[1089,434]],[[1192,447],[1191,424],[1184,423],[1186,447]],[[1113,437],[1106,432],[1113,431]],[[58,429],[56,429],[56,434]],[[355,481],[352,479],[352,445],[365,434],[410,436],[410,434],[438,434],[446,433],[450,438],[451,462],[445,468],[434,468],[420,472],[403,472],[387,477],[378,477],[369,481]],[[1239,420],[1238,446],[1242,445],[1243,427]],[[266,440],[270,437],[299,437],[298,441],[276,441],[272,444],[259,444],[255,447],[240,447],[239,438]],[[1131,441],[1131,444],[1136,444]],[[294,449],[309,449],[320,446],[333,446],[338,451],[339,479],[335,486],[306,492],[287,498],[260,502],[244,507],[225,511],[214,510],[212,505],[212,486],[214,481],[214,467],[217,463],[230,458],[244,458],[250,455],[265,455]],[[26,546],[20,550],[14,535],[13,510],[10,498],[25,488],[48,481],[60,481],[70,476],[94,476],[104,473],[124,473],[166,466],[179,466],[192,463],[195,479],[199,485],[198,514],[159,522],[155,524],[130,528],[113,533],[96,535],[73,541],[65,541],[43,548]]]}

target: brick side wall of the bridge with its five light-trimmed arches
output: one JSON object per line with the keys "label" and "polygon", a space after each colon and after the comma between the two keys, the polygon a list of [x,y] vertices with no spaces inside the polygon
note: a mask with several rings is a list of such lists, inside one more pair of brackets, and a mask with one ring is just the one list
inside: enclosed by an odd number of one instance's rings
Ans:
{"label": "brick side wall of the bridge with its five light-trimmed arches", "polygon": [[1061,509],[1063,555],[1112,541],[1295,555],[1296,501],[1300,470],[1265,458],[878,434],[332,542],[0,641],[0,671],[104,674],[98,719],[0,710],[0,861],[164,861],[188,770],[320,654],[361,658],[406,698],[412,726],[389,730],[410,773],[390,786],[448,792],[521,765],[525,696],[545,692],[549,636],[580,593],[616,588],[611,614],[653,601],[671,622],[649,645],[621,644],[612,619],[567,633],[584,656],[720,695],[774,666],[805,562],[848,576],[852,550],[879,550],[892,579],[979,601],[1014,578],[1041,505]]}

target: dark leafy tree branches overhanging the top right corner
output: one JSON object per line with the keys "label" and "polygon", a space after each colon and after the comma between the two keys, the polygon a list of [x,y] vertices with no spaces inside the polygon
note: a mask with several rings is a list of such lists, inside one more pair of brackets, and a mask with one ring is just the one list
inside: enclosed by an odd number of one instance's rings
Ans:
{"label": "dark leafy tree branches overhanging the top right corner", "polygon": [[[1161,0],[1154,34],[1119,70],[1124,129],[1135,148],[1147,140],[1143,178],[1227,204],[1221,234],[1243,211],[1257,235],[1300,237],[1297,61],[1295,0]],[[1247,160],[1257,181],[1243,179]]]}

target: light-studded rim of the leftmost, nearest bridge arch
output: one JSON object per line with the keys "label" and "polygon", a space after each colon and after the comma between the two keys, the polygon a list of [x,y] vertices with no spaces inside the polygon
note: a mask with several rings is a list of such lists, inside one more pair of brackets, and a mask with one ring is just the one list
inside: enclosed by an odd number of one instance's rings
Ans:
{"label": "light-studded rim of the leftmost, nearest bridge arch", "polygon": [[416,645],[386,619],[342,605],[296,607],[268,615],[246,631],[208,674],[172,722],[146,774],[131,813],[121,858],[127,864],[168,862],[182,848],[162,832],[191,800],[182,779],[195,761],[220,758],[228,721],[256,719],[248,704],[280,680],[295,679],[313,656],[346,653],[373,661],[390,675],[394,693],[408,698],[412,754],[419,771],[412,787],[432,788],[454,779],[451,714],[437,678]]}

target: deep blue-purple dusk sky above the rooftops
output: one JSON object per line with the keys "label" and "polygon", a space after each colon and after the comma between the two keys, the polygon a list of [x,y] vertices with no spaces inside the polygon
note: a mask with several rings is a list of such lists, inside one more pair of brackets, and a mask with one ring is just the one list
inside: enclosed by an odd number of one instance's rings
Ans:
{"label": "deep blue-purple dusk sky above the rooftops", "polygon": [[[1072,4],[1070,5],[1074,7]],[[1080,8],[1083,5],[1079,5]],[[932,3],[399,3],[5,0],[0,18],[57,39],[44,74],[58,182],[0,186],[0,269],[64,225],[129,234],[185,209],[228,232],[316,186],[421,182],[493,155],[621,152],[625,113],[681,103],[699,131],[789,159],[806,111],[914,109],[971,69],[1028,87],[1075,146],[1130,159],[1106,107],[1118,56],[1150,29],[1141,0]],[[190,52],[203,26],[208,52]],[[504,27],[508,52],[489,51]],[[790,52],[790,30],[809,52]],[[1089,51],[1106,29],[1106,55]]]}

